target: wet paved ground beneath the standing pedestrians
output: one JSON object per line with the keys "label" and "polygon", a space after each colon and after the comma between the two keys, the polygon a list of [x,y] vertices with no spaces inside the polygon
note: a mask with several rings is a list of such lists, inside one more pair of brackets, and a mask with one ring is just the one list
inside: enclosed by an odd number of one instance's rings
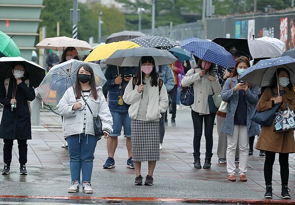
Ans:
{"label": "wet paved ground beneath the standing pedestrians", "polygon": [[[0,113],[1,115],[1,113]],[[171,117],[168,116],[168,119]],[[169,121],[170,122],[170,121]],[[193,168],[193,126],[190,109],[177,111],[176,125],[166,126],[161,160],[157,162],[153,186],[134,186],[134,170],[126,168],[125,138],[118,138],[116,167],[103,169],[107,159],[106,140],[98,142],[92,174],[93,194],[82,188],[67,193],[70,185],[68,150],[63,144],[60,116],[44,111],[39,127],[32,127],[28,141],[28,176],[19,175],[18,149],[13,147],[10,175],[0,176],[0,204],[295,204],[295,154],[290,155],[289,188],[292,200],[282,200],[278,156],[273,171],[273,199],[264,200],[264,157],[254,150],[249,157],[247,182],[228,180],[226,164],[218,163],[218,135],[214,127],[211,169]],[[257,139],[255,139],[256,144]],[[0,141],[2,154],[2,141]],[[254,146],[255,146],[254,144]],[[16,145],[16,142],[15,142]],[[201,142],[201,163],[205,158],[205,137]],[[236,163],[236,166],[238,164]],[[142,175],[148,172],[142,165]],[[238,178],[238,175],[236,174]],[[5,202],[5,203],[4,203]]]}

